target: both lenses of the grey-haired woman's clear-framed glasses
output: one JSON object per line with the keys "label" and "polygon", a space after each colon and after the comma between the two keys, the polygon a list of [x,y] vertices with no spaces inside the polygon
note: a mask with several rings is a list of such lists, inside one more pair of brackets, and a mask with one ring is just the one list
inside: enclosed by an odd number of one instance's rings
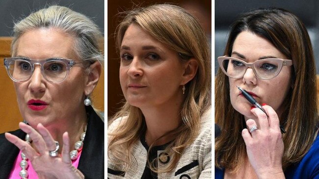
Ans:
{"label": "both lenses of the grey-haired woman's clear-framed glasses", "polygon": [[[9,63],[11,77],[16,81],[25,81],[32,75],[31,64],[26,60],[14,60]],[[45,62],[42,67],[44,78],[51,82],[62,81],[67,75],[67,66],[64,62],[52,60]]]}

